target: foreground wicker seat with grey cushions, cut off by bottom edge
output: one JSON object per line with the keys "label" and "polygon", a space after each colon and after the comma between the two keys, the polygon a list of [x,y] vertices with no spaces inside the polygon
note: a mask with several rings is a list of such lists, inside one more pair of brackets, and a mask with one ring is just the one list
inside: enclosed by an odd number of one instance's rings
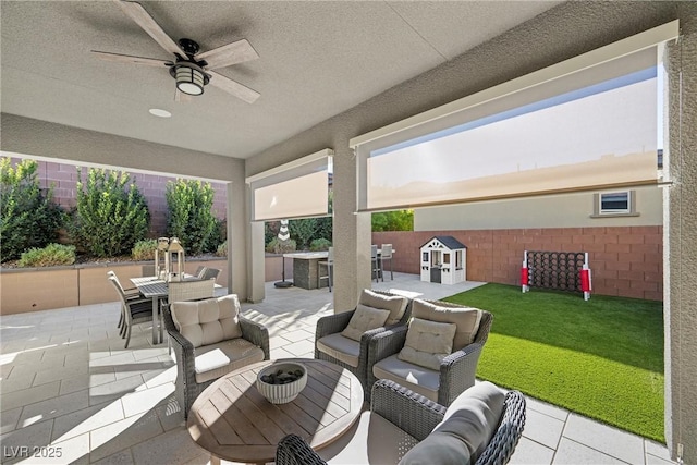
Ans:
{"label": "foreground wicker seat with grey cushions, cut off by bottom edge", "polygon": [[523,435],[525,408],[519,392],[504,393],[489,382],[468,389],[445,407],[382,379],[348,443],[317,453],[301,437],[289,435],[278,445],[276,463],[501,465]]}

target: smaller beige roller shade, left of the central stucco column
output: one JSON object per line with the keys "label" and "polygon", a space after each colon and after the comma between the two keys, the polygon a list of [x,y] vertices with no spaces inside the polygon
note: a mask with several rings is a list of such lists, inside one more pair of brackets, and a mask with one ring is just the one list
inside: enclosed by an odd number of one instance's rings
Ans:
{"label": "smaller beige roller shade, left of the central stucco column", "polygon": [[252,221],[328,215],[332,155],[323,149],[247,178]]}

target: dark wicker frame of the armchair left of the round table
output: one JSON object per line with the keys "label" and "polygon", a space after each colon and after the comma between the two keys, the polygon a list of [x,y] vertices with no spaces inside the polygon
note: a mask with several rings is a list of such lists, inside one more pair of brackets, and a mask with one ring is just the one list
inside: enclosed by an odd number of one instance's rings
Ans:
{"label": "dark wicker frame of the armchair left of the round table", "polygon": [[[206,305],[207,302],[211,301],[221,301],[221,299],[234,299],[234,304],[237,308],[237,318],[240,321],[240,329],[242,330],[242,336],[232,339],[232,340],[223,340],[216,344],[199,345],[198,347],[194,346],[194,343],[186,339],[182,333],[178,330],[174,320],[172,318],[172,311],[175,307],[179,306],[191,306],[191,305]],[[210,298],[205,301],[197,302],[174,302],[169,307],[164,308],[163,318],[164,318],[164,327],[167,328],[167,332],[172,342],[172,347],[174,348],[174,355],[176,357],[176,380],[175,380],[175,395],[176,400],[184,413],[184,418],[188,418],[188,411],[191,409],[192,404],[198,397],[198,395],[209,387],[217,378],[224,375],[224,370],[235,369],[239,366],[247,365],[248,363],[256,363],[268,360],[270,358],[270,348],[269,348],[269,331],[261,325],[252,321],[249,319],[244,318],[240,313],[240,303],[237,301],[237,296],[234,294],[230,294],[227,296]],[[228,348],[232,350],[232,352],[236,355],[240,355],[240,358],[234,358],[234,355],[230,355],[230,353],[225,353],[225,355],[230,356],[230,366],[229,367],[217,367],[216,368],[216,378],[210,378],[200,381],[200,372],[197,372],[196,369],[200,368],[200,365],[197,366],[197,356],[207,354],[211,352],[211,348],[215,350],[220,347],[221,345],[228,344]],[[250,358],[254,351],[257,348],[262,352],[261,359]],[[223,347],[225,348],[225,347]],[[200,362],[201,358],[198,358]],[[242,365],[241,365],[242,364]],[[200,371],[200,369],[199,369]],[[197,380],[199,378],[199,380]]]}

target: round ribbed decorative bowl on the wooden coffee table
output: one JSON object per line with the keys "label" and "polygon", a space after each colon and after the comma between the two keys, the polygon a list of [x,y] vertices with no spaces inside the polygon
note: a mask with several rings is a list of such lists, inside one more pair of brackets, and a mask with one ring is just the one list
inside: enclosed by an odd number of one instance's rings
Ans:
{"label": "round ribbed decorative bowl on the wooden coffee table", "polygon": [[272,404],[286,404],[307,384],[307,369],[295,362],[279,362],[257,375],[257,390]]}

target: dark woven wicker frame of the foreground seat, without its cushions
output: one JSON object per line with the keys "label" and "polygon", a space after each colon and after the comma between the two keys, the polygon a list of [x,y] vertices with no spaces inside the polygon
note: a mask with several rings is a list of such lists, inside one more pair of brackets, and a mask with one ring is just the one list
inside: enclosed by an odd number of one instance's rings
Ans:
{"label": "dark woven wicker frame of the foreground seat, without its cushions", "polygon": [[[466,395],[466,394],[464,394]],[[424,441],[433,429],[444,419],[448,408],[437,404],[420,394],[400,384],[380,380],[374,387],[370,404],[370,415],[377,414],[409,435],[416,441]],[[484,451],[478,456],[470,456],[475,465],[504,465],[513,455],[515,446],[525,427],[525,397],[518,391],[505,393],[503,411],[498,419],[490,439],[480,445]],[[371,438],[360,438],[367,441]],[[382,448],[406,449],[404,442],[386,443],[378,438]],[[351,448],[360,446],[352,441]],[[417,445],[418,446],[418,445]],[[477,450],[481,450],[477,448]],[[355,449],[352,449],[355,451]],[[404,451],[406,454],[408,451]],[[404,455],[400,454],[400,455]],[[400,462],[401,463],[401,462]],[[433,465],[439,465],[433,458]],[[465,462],[463,462],[465,463]],[[288,435],[280,442],[276,451],[277,465],[326,465],[327,462],[317,454],[301,437]]]}

